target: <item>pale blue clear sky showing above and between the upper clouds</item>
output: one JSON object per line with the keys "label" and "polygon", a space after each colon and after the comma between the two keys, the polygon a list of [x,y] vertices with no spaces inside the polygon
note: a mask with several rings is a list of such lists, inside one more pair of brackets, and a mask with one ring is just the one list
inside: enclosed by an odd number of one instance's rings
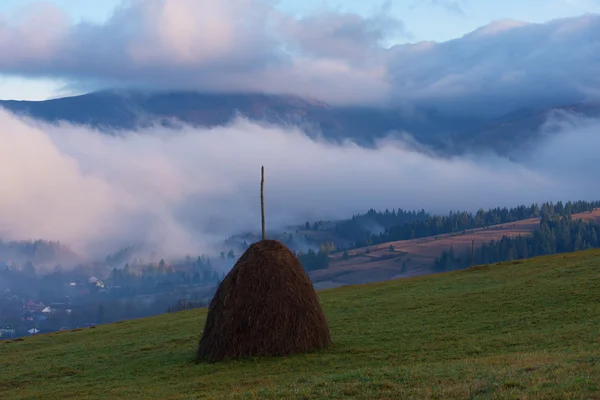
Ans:
{"label": "pale blue clear sky showing above and between the upper clouds", "polygon": [[[106,23],[116,7],[121,5],[120,0],[2,0],[0,28],[2,21],[11,21],[15,17],[23,17],[36,9],[42,9],[43,3],[59,7],[66,12],[71,23],[84,21],[92,24]],[[357,13],[367,18],[383,12],[394,18],[395,23],[402,25],[401,29],[383,38],[382,43],[386,47],[430,40],[444,42],[495,20],[514,19],[542,23],[555,18],[600,13],[600,0],[389,0],[379,3],[363,0],[273,0],[271,3],[277,10],[295,16],[308,15],[316,10],[333,10]],[[42,100],[85,90],[83,87],[73,87],[67,78],[48,78],[43,74],[19,76],[18,69],[3,71],[0,68],[0,99]]]}

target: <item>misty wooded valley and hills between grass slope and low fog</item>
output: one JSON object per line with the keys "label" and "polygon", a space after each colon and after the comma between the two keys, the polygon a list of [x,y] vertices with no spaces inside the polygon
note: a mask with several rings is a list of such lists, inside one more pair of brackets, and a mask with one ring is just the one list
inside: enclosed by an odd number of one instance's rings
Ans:
{"label": "misty wooded valley and hills between grass slope and low fog", "polygon": [[[306,221],[268,237],[297,254],[316,289],[329,289],[465,269],[472,242],[475,265],[600,247],[599,205],[550,202],[446,216],[371,209],[341,221]],[[510,238],[518,243],[509,245]],[[203,307],[248,244],[258,240],[249,232],[209,254],[166,259],[132,246],[104,260],[86,260],[57,242],[1,243],[0,337]],[[494,243],[502,245],[486,253]]]}

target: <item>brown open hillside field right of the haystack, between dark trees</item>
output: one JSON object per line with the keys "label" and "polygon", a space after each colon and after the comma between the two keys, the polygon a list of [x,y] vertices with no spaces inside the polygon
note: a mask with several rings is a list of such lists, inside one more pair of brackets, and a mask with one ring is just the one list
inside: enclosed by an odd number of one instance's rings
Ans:
{"label": "brown open hillside field right of the haystack, between dark trees", "polygon": [[[573,214],[573,219],[600,221],[600,209]],[[488,228],[387,242],[350,250],[348,259],[344,259],[342,253],[338,252],[331,256],[328,269],[313,271],[310,276],[316,287],[325,289],[347,284],[426,275],[432,273],[435,258],[450,247],[462,254],[470,250],[473,240],[477,248],[492,240],[500,240],[502,236],[529,235],[538,226],[539,218],[529,218],[492,225]],[[393,247],[393,251],[390,251],[390,246]]]}

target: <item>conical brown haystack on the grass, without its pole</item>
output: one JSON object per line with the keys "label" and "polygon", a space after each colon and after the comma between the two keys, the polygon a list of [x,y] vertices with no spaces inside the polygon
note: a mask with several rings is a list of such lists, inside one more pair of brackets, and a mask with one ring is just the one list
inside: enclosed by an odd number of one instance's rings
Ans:
{"label": "conical brown haystack on the grass, without its pole", "polygon": [[317,293],[284,244],[252,244],[213,297],[197,360],[308,353],[331,335]]}

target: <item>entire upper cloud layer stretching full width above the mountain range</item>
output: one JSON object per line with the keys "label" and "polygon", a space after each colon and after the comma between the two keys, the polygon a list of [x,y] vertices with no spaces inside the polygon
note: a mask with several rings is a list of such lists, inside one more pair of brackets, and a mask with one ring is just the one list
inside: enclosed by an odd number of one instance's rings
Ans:
{"label": "entire upper cloud layer stretching full width above the mountain range", "polygon": [[47,3],[0,20],[0,73],[90,90],[297,94],[470,116],[600,98],[599,15],[494,21],[458,39],[387,49],[390,35],[410,36],[391,15],[389,3],[369,17],[295,17],[267,0],[129,0],[98,25],[74,24]]}

